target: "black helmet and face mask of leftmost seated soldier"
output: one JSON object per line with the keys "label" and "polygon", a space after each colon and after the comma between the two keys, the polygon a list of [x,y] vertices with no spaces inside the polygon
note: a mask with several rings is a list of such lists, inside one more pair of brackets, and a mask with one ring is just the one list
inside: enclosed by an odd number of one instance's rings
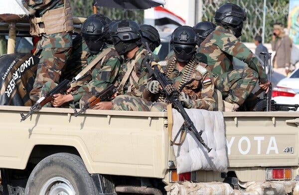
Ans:
{"label": "black helmet and face mask of leftmost seated soldier", "polygon": [[99,14],[89,16],[82,24],[81,32],[92,54],[99,53],[105,46],[104,23]]}

